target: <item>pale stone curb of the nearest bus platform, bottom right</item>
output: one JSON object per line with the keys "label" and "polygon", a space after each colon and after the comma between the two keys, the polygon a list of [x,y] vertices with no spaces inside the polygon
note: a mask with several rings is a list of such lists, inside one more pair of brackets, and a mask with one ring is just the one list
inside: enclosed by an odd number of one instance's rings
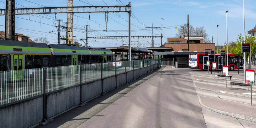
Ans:
{"label": "pale stone curb of the nearest bus platform, bottom right", "polygon": [[247,120],[247,121],[251,121],[251,122],[254,122],[256,123],[256,118],[254,117],[249,117],[249,116],[245,116],[245,115],[239,115],[239,114],[235,114],[235,113],[230,113],[230,112],[224,112],[224,111],[221,111],[221,110],[217,110],[217,109],[214,109],[214,108],[210,108],[208,106],[205,106],[202,101],[201,101],[201,98],[200,96],[197,96],[198,100],[199,100],[199,104],[201,104],[202,106],[204,106],[206,109],[208,110],[211,110],[213,112],[217,112],[217,113],[220,113],[222,115],[227,115],[227,116],[230,116],[230,117],[234,117],[234,118],[238,118],[238,119],[243,119],[243,120]]}

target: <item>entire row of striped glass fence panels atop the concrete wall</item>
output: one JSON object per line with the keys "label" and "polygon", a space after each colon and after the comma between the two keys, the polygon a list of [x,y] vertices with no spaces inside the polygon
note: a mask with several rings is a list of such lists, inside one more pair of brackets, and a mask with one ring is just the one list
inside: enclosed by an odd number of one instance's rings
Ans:
{"label": "entire row of striped glass fence panels atop the concrete wall", "polygon": [[[41,95],[43,94],[43,91],[45,91],[45,93],[52,93],[72,86],[77,86],[79,84],[104,79],[127,71],[158,64],[159,62],[159,59],[144,59],[40,69],[1,71],[0,106]],[[44,87],[45,90],[43,90]]]}

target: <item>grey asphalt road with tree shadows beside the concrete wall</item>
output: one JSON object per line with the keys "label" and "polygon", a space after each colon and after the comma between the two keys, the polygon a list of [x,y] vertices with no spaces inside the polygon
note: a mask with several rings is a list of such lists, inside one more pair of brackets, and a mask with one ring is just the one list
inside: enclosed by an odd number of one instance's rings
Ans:
{"label": "grey asphalt road with tree shadows beside the concrete wall", "polygon": [[206,127],[187,68],[165,67],[79,127]]}

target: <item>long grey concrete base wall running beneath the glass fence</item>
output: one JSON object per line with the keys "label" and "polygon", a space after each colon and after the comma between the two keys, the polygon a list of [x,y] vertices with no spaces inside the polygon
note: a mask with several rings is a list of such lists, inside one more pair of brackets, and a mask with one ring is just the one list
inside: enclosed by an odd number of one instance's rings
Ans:
{"label": "long grey concrete base wall running beneath the glass fence", "polygon": [[[154,68],[155,67],[155,68]],[[151,65],[141,69],[117,75],[117,86],[130,82],[139,76],[146,75],[151,69],[156,69],[156,65]],[[126,77],[126,78],[125,78]],[[82,102],[99,96],[102,92],[107,92],[116,87],[116,77],[112,76],[82,85]],[[59,113],[65,112],[78,106],[80,103],[80,86],[74,86],[65,90],[60,90],[46,95],[46,115],[48,118]],[[43,97],[22,101],[10,106],[0,108],[1,127],[31,127],[42,121],[43,116]]]}

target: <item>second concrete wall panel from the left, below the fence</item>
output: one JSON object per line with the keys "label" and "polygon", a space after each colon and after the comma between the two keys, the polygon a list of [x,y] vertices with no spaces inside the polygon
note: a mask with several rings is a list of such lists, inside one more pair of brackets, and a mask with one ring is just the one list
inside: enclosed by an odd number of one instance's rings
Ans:
{"label": "second concrete wall panel from the left, below the fence", "polygon": [[80,86],[54,92],[46,96],[47,117],[50,118],[79,105]]}

